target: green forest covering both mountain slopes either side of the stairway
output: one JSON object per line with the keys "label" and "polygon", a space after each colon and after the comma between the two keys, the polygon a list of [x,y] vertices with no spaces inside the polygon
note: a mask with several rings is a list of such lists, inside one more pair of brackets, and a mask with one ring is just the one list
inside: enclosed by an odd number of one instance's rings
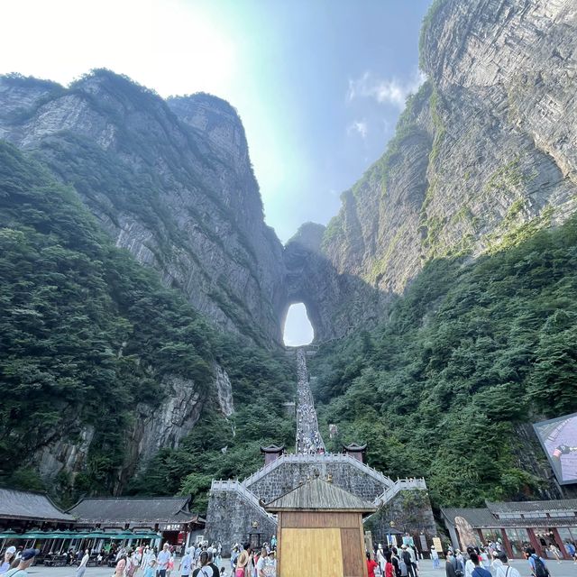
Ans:
{"label": "green forest covering both mountain slopes either side of the stairway", "polygon": [[[577,409],[576,289],[574,217],[475,261],[431,261],[380,326],[310,362],[321,423],[340,430],[331,448],[367,442],[372,466],[424,476],[437,505],[538,495],[516,427]],[[233,382],[229,419],[214,362]],[[128,492],[191,492],[202,511],[211,479],[253,472],[261,443],[293,443],[292,362],[211,328],[114,247],[75,188],[0,142],[0,481],[42,489],[33,454],[94,426],[84,470],[46,489],[65,503],[110,494],[137,405],[157,409],[170,376],[194,380],[206,406]]]}

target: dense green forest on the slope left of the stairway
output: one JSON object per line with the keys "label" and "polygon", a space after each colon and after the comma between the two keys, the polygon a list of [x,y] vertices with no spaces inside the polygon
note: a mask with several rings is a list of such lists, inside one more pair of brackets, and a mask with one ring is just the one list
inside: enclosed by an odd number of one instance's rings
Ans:
{"label": "dense green forest on the slope left of the stairway", "polygon": [[[217,409],[215,362],[233,383],[230,419]],[[193,380],[207,397],[204,412],[133,491],[192,492],[201,508],[212,475],[252,470],[259,443],[292,436],[281,412],[293,382],[286,361],[216,333],[178,291],[114,247],[74,188],[0,142],[0,481],[42,488],[42,447],[63,432],[78,440],[90,426],[86,466],[48,489],[69,500],[109,493],[129,458],[134,408],[152,414],[167,376]]]}

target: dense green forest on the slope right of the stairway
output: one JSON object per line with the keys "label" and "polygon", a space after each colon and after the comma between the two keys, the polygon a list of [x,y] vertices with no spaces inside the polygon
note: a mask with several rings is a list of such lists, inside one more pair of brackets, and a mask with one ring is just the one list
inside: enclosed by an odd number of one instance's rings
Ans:
{"label": "dense green forest on the slope right of the stairway", "polygon": [[431,261],[386,323],[321,347],[319,418],[390,476],[426,477],[436,503],[536,496],[516,427],[577,410],[575,294],[575,218],[477,261]]}

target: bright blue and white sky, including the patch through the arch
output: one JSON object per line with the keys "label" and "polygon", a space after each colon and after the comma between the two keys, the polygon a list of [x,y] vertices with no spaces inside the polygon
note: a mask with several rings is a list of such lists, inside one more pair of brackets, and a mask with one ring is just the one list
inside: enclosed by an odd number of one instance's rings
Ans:
{"label": "bright blue and white sky, including the patch through the arch", "polygon": [[[385,150],[423,81],[418,32],[429,4],[2,0],[0,74],[66,85],[107,68],[160,96],[225,98],[243,120],[266,222],[284,243],[300,224],[326,224]],[[291,343],[310,332],[302,310],[298,319]]]}

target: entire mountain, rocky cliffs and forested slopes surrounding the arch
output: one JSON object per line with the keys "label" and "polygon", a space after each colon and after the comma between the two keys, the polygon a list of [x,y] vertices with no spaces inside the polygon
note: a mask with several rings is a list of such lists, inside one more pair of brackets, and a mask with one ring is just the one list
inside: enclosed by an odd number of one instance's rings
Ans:
{"label": "entire mountain, rocky cliffs and forested slopes surrounding the arch", "polygon": [[577,410],[576,19],[435,0],[385,153],[284,247],[223,100],[0,78],[0,480],[202,509],[294,438],[302,301],[333,449],[437,504],[572,495],[529,424]]}

